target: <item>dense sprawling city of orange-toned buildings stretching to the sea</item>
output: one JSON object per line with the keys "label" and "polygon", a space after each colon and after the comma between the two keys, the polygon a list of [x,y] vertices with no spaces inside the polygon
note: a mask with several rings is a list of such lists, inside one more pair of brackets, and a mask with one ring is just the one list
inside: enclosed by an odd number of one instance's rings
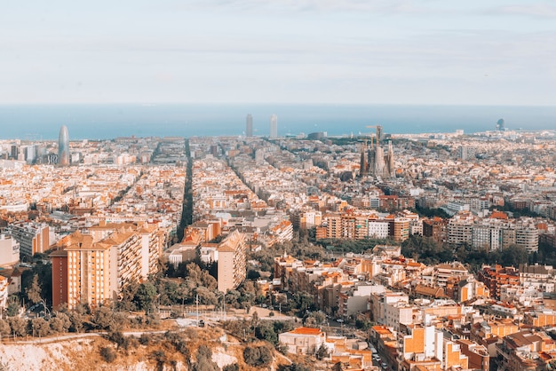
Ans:
{"label": "dense sprawling city of orange-toned buildings stretching to the sea", "polygon": [[556,131],[279,131],[0,141],[3,369],[556,367]]}

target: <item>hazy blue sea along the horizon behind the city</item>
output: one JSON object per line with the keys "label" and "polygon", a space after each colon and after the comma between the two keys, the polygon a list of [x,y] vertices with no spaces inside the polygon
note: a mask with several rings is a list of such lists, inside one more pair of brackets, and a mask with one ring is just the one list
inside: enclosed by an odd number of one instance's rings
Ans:
{"label": "hazy blue sea along the horizon behind the city", "polygon": [[73,104],[0,105],[0,139],[57,139],[60,126],[70,140],[117,137],[242,136],[247,114],[253,134],[269,134],[270,115],[278,135],[325,131],[328,136],[366,135],[369,125],[385,133],[466,134],[495,130],[556,130],[556,106],[418,106],[334,104]]}

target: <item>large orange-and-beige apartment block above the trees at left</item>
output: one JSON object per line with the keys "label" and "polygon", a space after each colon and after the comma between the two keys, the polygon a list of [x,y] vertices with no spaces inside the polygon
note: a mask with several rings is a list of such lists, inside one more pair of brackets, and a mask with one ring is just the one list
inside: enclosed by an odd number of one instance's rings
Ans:
{"label": "large orange-and-beige apartment block above the trees at left", "polygon": [[156,224],[102,224],[69,234],[52,259],[52,305],[91,307],[122,296],[131,282],[158,272],[163,231]]}

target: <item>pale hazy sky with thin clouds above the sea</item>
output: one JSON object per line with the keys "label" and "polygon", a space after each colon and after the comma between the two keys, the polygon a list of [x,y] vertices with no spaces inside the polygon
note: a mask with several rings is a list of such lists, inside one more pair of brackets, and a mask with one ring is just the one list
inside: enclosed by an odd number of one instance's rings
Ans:
{"label": "pale hazy sky with thin clouds above the sea", "polygon": [[0,5],[0,103],[556,105],[555,0]]}

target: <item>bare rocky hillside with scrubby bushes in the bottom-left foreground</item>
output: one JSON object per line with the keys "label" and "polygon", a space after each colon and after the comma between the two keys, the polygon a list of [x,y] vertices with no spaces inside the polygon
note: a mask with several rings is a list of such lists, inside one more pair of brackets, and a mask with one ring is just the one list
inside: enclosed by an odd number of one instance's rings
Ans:
{"label": "bare rocky hillside with scrubby bushes in the bottom-left foreground", "polygon": [[[271,360],[264,367],[250,367],[243,360],[246,344],[225,335],[219,328],[186,328],[165,334],[83,335],[64,339],[42,339],[42,343],[4,343],[0,347],[0,370],[93,371],[93,370],[190,370],[278,369],[290,360],[264,342],[249,343],[266,347]],[[46,343],[49,342],[49,343]],[[210,351],[207,351],[210,350]],[[210,357],[210,360],[202,359]],[[217,368],[214,368],[217,367]]]}

